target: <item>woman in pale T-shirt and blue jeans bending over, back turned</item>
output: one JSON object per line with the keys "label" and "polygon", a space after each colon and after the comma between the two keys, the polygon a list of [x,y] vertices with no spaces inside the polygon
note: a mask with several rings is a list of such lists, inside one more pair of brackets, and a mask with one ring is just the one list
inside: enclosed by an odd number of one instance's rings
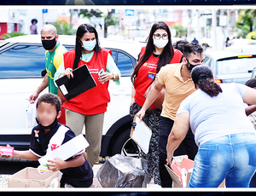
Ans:
{"label": "woman in pale T-shirt and blue jeans bending over, back turned", "polygon": [[243,84],[216,84],[209,66],[191,72],[196,91],[182,101],[168,138],[167,164],[189,125],[198,152],[188,187],[249,187],[256,169],[256,135],[244,102],[256,104],[256,90]]}

